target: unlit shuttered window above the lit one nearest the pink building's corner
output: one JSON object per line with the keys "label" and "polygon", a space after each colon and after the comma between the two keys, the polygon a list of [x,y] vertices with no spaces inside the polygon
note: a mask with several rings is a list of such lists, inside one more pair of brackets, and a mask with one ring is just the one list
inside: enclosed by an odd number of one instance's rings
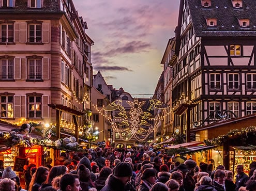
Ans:
{"label": "unlit shuttered window above the lit one nearest the pink building's corner", "polygon": [[28,60],[28,79],[42,78],[42,61],[41,59]]}

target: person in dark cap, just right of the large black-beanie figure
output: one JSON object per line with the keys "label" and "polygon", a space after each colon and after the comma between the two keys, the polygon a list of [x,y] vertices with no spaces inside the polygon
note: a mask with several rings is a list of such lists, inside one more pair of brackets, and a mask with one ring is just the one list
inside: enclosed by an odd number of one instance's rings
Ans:
{"label": "person in dark cap, just right of the large black-beanie figure", "polygon": [[157,172],[154,168],[147,168],[143,171],[138,191],[149,191],[156,182]]}

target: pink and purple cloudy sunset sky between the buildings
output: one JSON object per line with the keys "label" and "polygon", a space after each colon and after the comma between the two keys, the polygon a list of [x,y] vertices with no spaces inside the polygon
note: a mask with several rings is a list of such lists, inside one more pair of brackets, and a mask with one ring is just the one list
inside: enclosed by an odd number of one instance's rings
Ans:
{"label": "pink and purple cloudy sunset sky between the buildings", "polygon": [[[179,0],[73,0],[93,39],[94,74],[133,97],[153,94],[177,25]],[[152,95],[145,95],[148,98]]]}

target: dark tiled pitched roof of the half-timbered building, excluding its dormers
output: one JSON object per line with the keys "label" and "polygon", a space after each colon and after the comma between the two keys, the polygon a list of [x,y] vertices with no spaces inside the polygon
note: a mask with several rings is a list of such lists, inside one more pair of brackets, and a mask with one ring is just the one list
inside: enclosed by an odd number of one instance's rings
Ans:
{"label": "dark tiled pitched roof of the half-timbered building, excluding its dormers", "polygon": [[[242,8],[234,8],[231,0],[212,0],[203,7],[200,0],[186,0],[197,37],[256,37],[256,1],[243,0]],[[217,26],[207,26],[205,18],[216,18]],[[249,19],[250,25],[242,27],[237,19]]]}

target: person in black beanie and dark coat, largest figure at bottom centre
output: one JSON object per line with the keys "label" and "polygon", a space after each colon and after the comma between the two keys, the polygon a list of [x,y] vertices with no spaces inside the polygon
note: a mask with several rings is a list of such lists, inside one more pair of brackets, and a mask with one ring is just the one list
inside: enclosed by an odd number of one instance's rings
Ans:
{"label": "person in black beanie and dark coat, largest figure at bottom centre", "polygon": [[131,181],[132,168],[125,162],[118,163],[115,173],[110,175],[107,185],[101,191],[125,191],[125,185]]}

